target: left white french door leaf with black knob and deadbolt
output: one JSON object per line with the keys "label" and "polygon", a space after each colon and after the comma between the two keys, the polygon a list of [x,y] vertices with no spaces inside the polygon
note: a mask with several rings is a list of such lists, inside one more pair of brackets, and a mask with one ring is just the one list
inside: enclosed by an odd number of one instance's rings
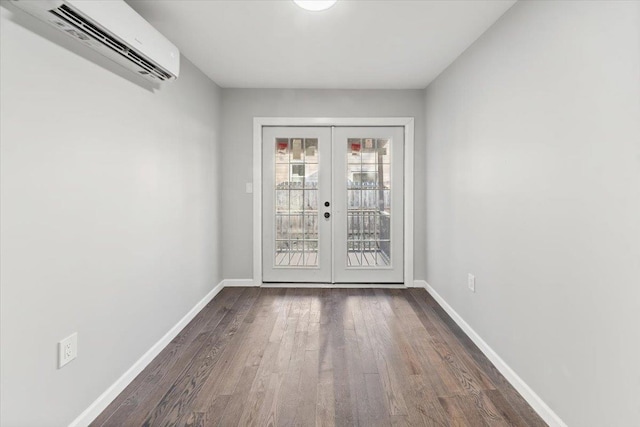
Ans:
{"label": "left white french door leaf with black knob and deadbolt", "polygon": [[331,128],[264,127],[262,139],[262,280],[331,283]]}

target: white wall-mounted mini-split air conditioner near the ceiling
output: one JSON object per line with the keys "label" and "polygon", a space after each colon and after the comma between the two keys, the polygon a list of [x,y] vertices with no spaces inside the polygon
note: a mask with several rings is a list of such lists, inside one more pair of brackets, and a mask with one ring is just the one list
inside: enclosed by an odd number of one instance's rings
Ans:
{"label": "white wall-mounted mini-split air conditioner near the ceiling", "polygon": [[153,82],[175,80],[180,51],[124,0],[12,0],[60,31]]}

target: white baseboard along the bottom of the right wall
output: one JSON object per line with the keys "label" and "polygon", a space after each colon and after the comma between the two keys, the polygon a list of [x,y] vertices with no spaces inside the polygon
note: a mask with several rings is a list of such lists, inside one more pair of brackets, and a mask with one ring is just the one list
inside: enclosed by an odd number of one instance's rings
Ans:
{"label": "white baseboard along the bottom of the right wall", "polygon": [[[415,282],[418,282],[416,280]],[[465,334],[478,346],[480,351],[495,365],[502,375],[520,393],[524,400],[542,417],[550,427],[567,427],[562,419],[524,382],[516,372],[487,344],[476,331],[451,307],[426,281],[424,287],[449,316],[460,326]]]}

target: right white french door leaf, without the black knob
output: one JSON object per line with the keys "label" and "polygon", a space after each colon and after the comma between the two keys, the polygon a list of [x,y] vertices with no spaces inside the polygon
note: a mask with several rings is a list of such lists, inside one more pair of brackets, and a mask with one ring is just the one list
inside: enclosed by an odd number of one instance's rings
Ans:
{"label": "right white french door leaf, without the black knob", "polygon": [[333,281],[403,282],[402,127],[335,127]]}

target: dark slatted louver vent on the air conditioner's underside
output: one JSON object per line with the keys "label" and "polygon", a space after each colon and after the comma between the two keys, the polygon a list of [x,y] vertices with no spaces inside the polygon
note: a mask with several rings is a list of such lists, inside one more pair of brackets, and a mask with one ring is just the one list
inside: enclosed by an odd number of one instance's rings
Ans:
{"label": "dark slatted louver vent on the air conditioner's underside", "polygon": [[[67,33],[71,34],[72,36],[81,40],[86,40],[84,37],[82,37],[82,35],[88,35],[107,48],[111,49],[112,51],[137,64],[140,68],[146,71],[149,76],[153,76],[160,81],[171,79],[171,74],[155,65],[153,61],[150,61],[140,53],[127,47],[124,43],[91,23],[67,5],[63,4],[62,6],[58,7],[57,9],[53,9],[50,12],[78,30],[79,33],[72,30],[67,30]],[[147,74],[142,72],[140,73]]]}

